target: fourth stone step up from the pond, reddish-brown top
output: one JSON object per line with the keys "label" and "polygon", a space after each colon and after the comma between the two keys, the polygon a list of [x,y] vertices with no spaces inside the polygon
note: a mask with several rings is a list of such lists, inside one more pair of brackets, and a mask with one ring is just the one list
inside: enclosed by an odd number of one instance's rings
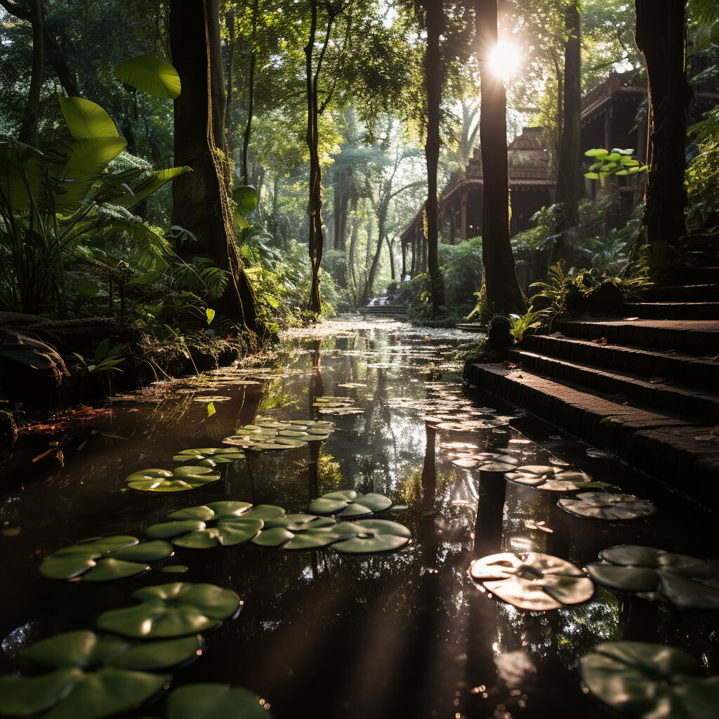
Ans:
{"label": "fourth stone step up from the pond, reddish-brown top", "polygon": [[719,355],[719,321],[716,320],[581,319],[555,322],[554,329],[574,339],[604,338],[609,344],[674,349],[699,357]]}

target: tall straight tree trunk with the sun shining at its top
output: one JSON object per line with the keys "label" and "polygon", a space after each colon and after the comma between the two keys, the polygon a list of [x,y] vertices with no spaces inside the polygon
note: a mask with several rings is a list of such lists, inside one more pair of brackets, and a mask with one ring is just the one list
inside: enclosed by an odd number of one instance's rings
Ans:
{"label": "tall straight tree trunk with the sun shining at its top", "polygon": [[497,46],[497,0],[475,0],[477,60],[480,65],[480,147],[482,193],[482,263],[487,308],[503,314],[526,310],[509,242],[509,169],[507,96],[490,61]]}

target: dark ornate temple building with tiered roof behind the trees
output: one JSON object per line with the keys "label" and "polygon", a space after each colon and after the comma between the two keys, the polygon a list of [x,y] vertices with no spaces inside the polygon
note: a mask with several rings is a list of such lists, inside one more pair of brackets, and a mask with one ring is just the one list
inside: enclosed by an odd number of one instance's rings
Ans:
{"label": "dark ornate temple building with tiered roof behind the trees", "polygon": [[[585,150],[592,147],[628,148],[646,161],[646,114],[637,120],[646,100],[646,87],[634,84],[633,73],[610,75],[607,81],[582,99],[581,173],[587,171],[590,158]],[[510,189],[510,234],[514,236],[531,226],[532,216],[554,202],[557,177],[549,168],[541,127],[525,127],[507,148]],[[641,201],[644,174],[618,180],[621,213],[628,213]],[[441,242],[456,244],[482,234],[482,156],[475,148],[464,173],[453,173],[439,197]],[[585,180],[585,196],[599,199],[606,188],[595,180]],[[414,276],[426,268],[426,238],[423,209],[401,234],[402,277]]]}

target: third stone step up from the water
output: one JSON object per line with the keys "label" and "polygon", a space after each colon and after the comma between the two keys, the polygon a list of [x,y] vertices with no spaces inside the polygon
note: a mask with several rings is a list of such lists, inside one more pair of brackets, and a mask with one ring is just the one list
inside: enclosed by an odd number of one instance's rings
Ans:
{"label": "third stone step up from the water", "polygon": [[521,349],[605,370],[636,373],[647,380],[663,377],[682,384],[719,388],[719,362],[675,350],[661,352],[547,334],[525,336]]}

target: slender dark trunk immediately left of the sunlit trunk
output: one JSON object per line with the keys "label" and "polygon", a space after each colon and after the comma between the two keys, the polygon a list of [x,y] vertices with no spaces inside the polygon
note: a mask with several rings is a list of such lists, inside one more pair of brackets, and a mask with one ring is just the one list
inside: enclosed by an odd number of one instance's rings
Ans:
{"label": "slender dark trunk immediately left of the sunlit trunk", "polygon": [[432,316],[439,316],[444,305],[444,288],[439,273],[437,243],[439,237],[439,206],[437,202],[437,163],[439,162],[439,109],[442,100],[444,72],[441,64],[439,36],[444,29],[442,0],[429,0],[425,4],[427,48],[424,55],[424,78],[427,93],[427,139],[424,155],[427,162],[427,243],[429,288],[432,295]]}

